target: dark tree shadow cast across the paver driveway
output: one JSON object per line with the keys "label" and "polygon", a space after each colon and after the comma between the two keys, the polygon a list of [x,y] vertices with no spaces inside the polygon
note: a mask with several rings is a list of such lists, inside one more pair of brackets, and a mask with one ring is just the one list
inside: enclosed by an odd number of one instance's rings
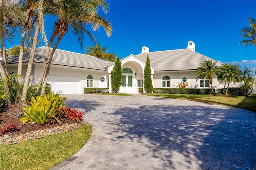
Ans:
{"label": "dark tree shadow cast across the paver driveway", "polygon": [[116,124],[111,133],[125,134],[124,138],[149,149],[150,153],[140,156],[149,161],[156,158],[153,169],[256,168],[252,164],[256,158],[255,114],[212,106],[122,107],[110,113],[120,117],[111,122]]}

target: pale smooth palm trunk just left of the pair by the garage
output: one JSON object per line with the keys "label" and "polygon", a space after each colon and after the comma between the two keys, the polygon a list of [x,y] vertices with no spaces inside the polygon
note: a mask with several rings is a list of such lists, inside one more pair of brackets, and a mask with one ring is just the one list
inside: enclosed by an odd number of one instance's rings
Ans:
{"label": "pale smooth palm trunk just left of the pair by the garage", "polygon": [[34,62],[34,57],[35,57],[35,53],[36,53],[36,46],[37,46],[37,42],[38,42],[39,32],[40,32],[40,21],[38,20],[37,23],[36,23],[34,41],[33,41],[32,49],[31,49],[31,52],[30,52],[30,57],[29,57],[29,61],[28,61],[28,68],[27,68],[24,87],[23,87],[22,96],[21,96],[21,102],[22,103],[25,102],[27,92],[28,92],[28,86],[29,86],[29,82],[30,82],[30,76],[31,76],[33,62]]}

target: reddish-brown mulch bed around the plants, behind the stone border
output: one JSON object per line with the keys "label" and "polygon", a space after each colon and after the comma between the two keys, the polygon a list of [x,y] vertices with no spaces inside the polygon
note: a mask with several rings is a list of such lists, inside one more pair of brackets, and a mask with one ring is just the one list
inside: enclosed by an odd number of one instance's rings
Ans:
{"label": "reddish-brown mulch bed around the plants, behind the stone border", "polygon": [[[27,132],[31,132],[31,131],[38,131],[38,130],[43,130],[43,129],[47,129],[47,128],[52,128],[52,127],[56,127],[56,126],[60,126],[60,124],[58,124],[58,122],[52,123],[50,125],[38,125],[38,124],[34,124],[34,123],[28,123],[26,125],[21,125],[21,121],[20,118],[24,117],[19,117],[19,118],[12,118],[10,116],[8,116],[8,112],[10,111],[14,111],[16,110],[16,105],[10,106],[6,109],[4,109],[4,111],[2,111],[0,113],[0,130],[2,129],[6,129],[6,127],[8,127],[9,125],[17,125],[18,128],[20,129],[19,131],[13,132],[13,133],[8,133],[7,135],[19,135],[19,134],[24,134]],[[66,118],[61,118],[59,119],[61,123],[68,123],[68,124],[73,124],[73,123],[77,123],[77,121],[72,121],[70,119],[66,119]]]}

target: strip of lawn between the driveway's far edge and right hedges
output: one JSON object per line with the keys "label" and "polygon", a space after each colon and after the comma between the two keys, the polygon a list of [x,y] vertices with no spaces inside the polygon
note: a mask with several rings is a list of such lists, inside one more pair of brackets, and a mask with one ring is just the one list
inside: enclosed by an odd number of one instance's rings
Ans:
{"label": "strip of lawn between the driveway's far edge and right hedges", "polygon": [[235,96],[235,97],[224,97],[224,96],[211,96],[211,95],[194,95],[194,94],[144,94],[148,96],[156,96],[163,98],[173,98],[180,100],[191,100],[196,102],[205,102],[210,104],[220,104],[232,107],[238,107],[246,109],[256,113],[256,94],[252,94],[249,97]]}

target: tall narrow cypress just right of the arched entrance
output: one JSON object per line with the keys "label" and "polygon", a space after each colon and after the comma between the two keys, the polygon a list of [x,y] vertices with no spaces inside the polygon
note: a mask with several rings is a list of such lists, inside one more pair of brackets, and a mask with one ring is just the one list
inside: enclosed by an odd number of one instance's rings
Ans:
{"label": "tall narrow cypress just right of the arched entrance", "polygon": [[147,91],[147,93],[153,92],[153,85],[152,85],[152,79],[151,79],[151,69],[150,69],[150,60],[147,56],[146,66],[144,68],[144,87]]}

